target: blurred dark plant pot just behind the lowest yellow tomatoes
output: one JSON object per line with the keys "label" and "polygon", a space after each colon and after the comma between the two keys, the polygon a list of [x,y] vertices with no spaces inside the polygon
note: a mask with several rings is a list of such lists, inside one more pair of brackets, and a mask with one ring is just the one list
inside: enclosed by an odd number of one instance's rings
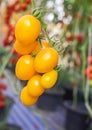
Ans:
{"label": "blurred dark plant pot just behind the lowest yellow tomatoes", "polygon": [[36,105],[43,110],[55,111],[62,104],[64,94],[63,90],[61,92],[45,92],[39,97]]}

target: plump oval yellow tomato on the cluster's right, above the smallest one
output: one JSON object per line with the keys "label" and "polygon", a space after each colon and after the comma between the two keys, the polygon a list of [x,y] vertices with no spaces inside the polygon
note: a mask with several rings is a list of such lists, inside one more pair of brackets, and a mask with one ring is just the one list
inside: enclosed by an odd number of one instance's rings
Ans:
{"label": "plump oval yellow tomato on the cluster's right, above the smallest one", "polygon": [[41,50],[34,59],[35,70],[39,73],[51,71],[58,64],[58,53],[54,48]]}

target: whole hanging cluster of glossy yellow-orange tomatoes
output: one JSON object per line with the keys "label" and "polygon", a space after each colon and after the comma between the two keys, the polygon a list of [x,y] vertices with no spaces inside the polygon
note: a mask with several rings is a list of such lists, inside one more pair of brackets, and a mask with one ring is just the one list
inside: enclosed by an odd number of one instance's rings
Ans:
{"label": "whole hanging cluster of glossy yellow-orange tomatoes", "polygon": [[37,41],[40,32],[41,23],[32,15],[22,16],[15,26],[14,48],[22,54],[16,63],[15,73],[20,80],[28,81],[20,94],[21,102],[26,106],[35,104],[58,78],[58,72],[54,69],[58,64],[58,53],[48,42],[42,41],[40,45]]}

